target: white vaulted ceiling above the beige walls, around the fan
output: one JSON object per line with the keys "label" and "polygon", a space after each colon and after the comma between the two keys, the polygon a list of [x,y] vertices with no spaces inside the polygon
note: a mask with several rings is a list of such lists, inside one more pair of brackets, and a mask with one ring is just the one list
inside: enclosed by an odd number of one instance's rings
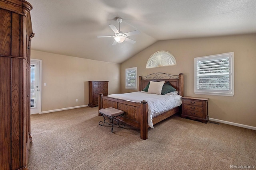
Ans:
{"label": "white vaulted ceiling above the beige walls, around the fan", "polygon": [[[256,0],[27,0],[32,49],[122,63],[156,41],[256,33]],[[139,35],[112,45],[108,25]],[[150,57],[150,56],[149,56]]]}

